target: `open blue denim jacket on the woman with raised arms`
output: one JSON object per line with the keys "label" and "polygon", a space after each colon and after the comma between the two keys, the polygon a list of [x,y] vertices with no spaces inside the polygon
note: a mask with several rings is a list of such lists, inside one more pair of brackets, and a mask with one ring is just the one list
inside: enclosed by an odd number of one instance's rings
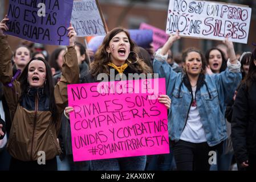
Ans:
{"label": "open blue denim jacket on the woman with raised arms", "polygon": [[[209,146],[216,146],[227,138],[225,109],[232,99],[235,88],[241,81],[241,63],[227,62],[224,72],[205,75],[205,84],[196,92],[197,107]],[[186,125],[192,104],[192,93],[182,82],[182,73],[176,73],[165,60],[155,56],[153,61],[155,73],[165,77],[166,94],[172,100],[168,115],[169,137],[177,142]]]}

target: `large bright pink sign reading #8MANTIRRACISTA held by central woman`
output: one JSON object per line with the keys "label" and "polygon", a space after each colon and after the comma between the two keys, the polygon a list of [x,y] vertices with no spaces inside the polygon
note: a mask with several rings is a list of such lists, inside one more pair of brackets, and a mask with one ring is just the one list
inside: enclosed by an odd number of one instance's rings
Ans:
{"label": "large bright pink sign reading #8MANTIRRACISTA held by central woman", "polygon": [[74,161],[168,154],[160,94],[165,78],[68,85]]}

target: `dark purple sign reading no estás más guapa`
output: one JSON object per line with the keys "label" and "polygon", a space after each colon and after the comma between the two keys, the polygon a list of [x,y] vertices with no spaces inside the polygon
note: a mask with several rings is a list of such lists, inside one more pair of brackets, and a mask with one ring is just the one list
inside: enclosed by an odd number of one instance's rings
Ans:
{"label": "dark purple sign reading no est\u00e1s m\u00e1s guapa", "polygon": [[6,34],[36,43],[67,46],[72,6],[72,0],[10,0]]}

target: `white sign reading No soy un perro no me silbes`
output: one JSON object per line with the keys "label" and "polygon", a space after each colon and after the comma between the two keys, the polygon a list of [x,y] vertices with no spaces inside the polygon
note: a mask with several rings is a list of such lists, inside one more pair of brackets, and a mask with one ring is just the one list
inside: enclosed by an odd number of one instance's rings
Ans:
{"label": "white sign reading No soy un perro no me silbes", "polygon": [[166,33],[247,43],[251,9],[210,1],[170,0]]}

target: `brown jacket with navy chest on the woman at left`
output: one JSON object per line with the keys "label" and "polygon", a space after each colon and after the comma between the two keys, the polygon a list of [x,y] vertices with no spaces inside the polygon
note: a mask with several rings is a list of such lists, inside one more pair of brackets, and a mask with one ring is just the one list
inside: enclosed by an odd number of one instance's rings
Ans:
{"label": "brown jacket with navy chest on the woman at left", "polygon": [[[11,48],[7,36],[0,37],[0,80],[6,85],[13,76]],[[22,161],[38,159],[38,151],[44,151],[46,160],[59,155],[57,141],[60,130],[60,116],[67,105],[67,84],[79,82],[78,60],[75,47],[68,47],[64,54],[63,74],[55,86],[54,98],[58,119],[54,121],[48,97],[43,89],[31,88],[21,98],[21,84],[14,80],[13,87],[4,86],[5,97],[11,115],[11,131],[7,150],[13,158]]]}

